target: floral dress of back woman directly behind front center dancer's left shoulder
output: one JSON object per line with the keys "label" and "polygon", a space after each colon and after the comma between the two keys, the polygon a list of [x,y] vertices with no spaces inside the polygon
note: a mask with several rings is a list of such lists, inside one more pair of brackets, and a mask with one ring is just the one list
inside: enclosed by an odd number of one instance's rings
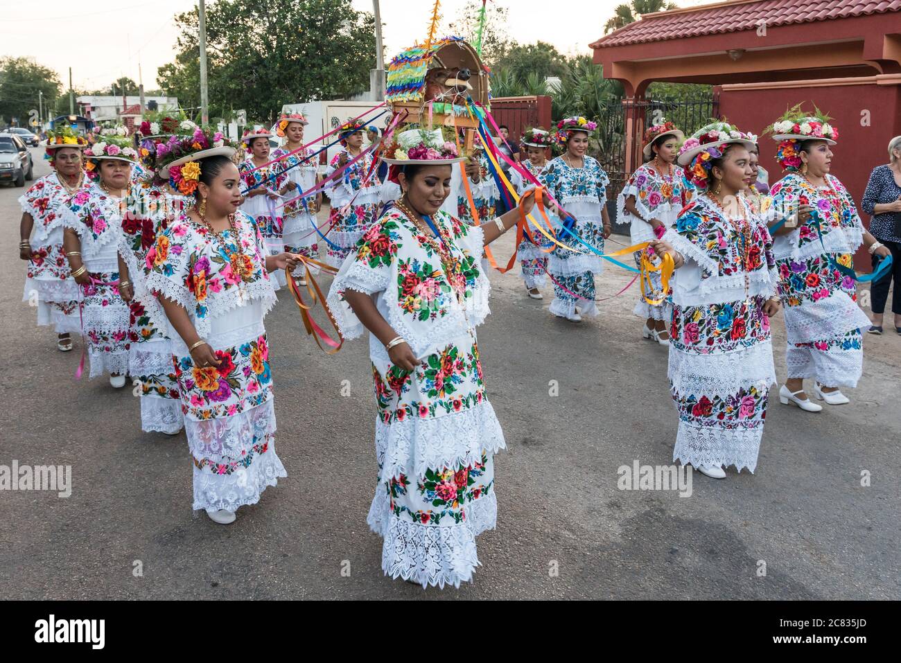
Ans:
{"label": "floral dress of back woman directly behind front center dancer's left shoulder", "polygon": [[[341,154],[347,160],[353,160],[346,149],[338,152],[329,163],[325,177],[329,177],[338,168]],[[369,175],[369,177],[367,177]],[[372,168],[372,155],[368,153],[350,168],[345,168],[337,179],[328,186],[328,194],[332,204],[329,215],[331,231],[326,234],[328,249],[325,262],[332,267],[341,267],[341,263],[350,254],[350,250],[359,238],[376,223],[378,204],[382,195],[382,183],[378,179],[376,168]]]}

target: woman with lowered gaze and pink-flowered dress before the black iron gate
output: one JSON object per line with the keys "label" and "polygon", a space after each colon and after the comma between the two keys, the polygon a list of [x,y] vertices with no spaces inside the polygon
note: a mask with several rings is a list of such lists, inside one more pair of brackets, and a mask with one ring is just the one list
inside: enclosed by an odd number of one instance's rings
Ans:
{"label": "woman with lowered gaze and pink-flowered dress before the black iron gate", "polygon": [[[691,198],[691,191],[685,181],[685,171],[676,165],[678,146],[685,140],[685,134],[671,122],[654,124],[644,132],[642,154],[647,162],[639,166],[623,191],[616,199],[618,223],[628,223],[633,244],[653,241],[658,233],[669,230],[676,223],[678,213]],[[658,230],[660,229],[660,230]],[[635,251],[635,264],[641,266],[642,251]],[[651,256],[654,265],[660,265],[660,258]],[[651,272],[652,301],[665,300],[668,293],[661,290],[660,272]],[[669,318],[672,304],[648,304],[639,295],[633,313],[644,318],[642,336],[653,339],[660,345],[669,345]]]}

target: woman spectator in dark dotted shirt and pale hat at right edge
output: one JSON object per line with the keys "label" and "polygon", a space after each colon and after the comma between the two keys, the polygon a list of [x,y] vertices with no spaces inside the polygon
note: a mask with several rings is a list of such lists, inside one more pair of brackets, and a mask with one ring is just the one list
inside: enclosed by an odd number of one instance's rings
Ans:
{"label": "woman spectator in dark dotted shirt and pale hat at right edge", "polygon": [[[869,232],[892,252],[892,268],[870,287],[873,326],[869,332],[873,334],[882,333],[882,317],[893,278],[892,313],[895,313],[895,331],[901,334],[901,136],[889,141],[888,154],[891,161],[873,168],[869,174],[867,190],[860,203],[860,208],[872,215]],[[874,256],[874,269],[877,262]]]}

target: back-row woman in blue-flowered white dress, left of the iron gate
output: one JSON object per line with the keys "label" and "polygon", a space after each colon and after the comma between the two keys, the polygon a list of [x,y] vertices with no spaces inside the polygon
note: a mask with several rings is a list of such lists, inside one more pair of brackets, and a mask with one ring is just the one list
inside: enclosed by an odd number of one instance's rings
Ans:
{"label": "back-row woman in blue-flowered white dress, left of the iron gate", "polygon": [[604,269],[604,259],[589,249],[604,252],[604,241],[612,232],[607,216],[607,185],[610,178],[597,159],[587,155],[588,138],[596,123],[584,117],[568,117],[557,124],[556,140],[565,152],[552,159],[542,172],[542,184],[558,204],[572,215],[563,220],[570,232],[559,229],[561,244],[551,251],[548,273],[554,281],[554,300],[548,310],[572,322],[582,320],[582,313],[597,314],[595,275]]}

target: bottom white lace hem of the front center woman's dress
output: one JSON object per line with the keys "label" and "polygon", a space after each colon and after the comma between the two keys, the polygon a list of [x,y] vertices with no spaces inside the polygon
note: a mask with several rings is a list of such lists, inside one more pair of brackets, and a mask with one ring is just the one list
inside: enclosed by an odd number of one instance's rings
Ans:
{"label": "bottom white lace hem of the front center woman's dress", "polygon": [[[381,486],[379,486],[381,487]],[[426,586],[460,587],[470,582],[476,567],[481,566],[476,552],[476,537],[493,530],[497,522],[497,497],[494,491],[479,497],[466,507],[467,518],[447,527],[405,522],[387,515],[383,520],[374,512],[388,514],[387,495],[378,490],[369,510],[369,527],[384,538],[382,569],[386,576]],[[377,502],[384,502],[384,507]],[[384,517],[384,516],[383,516]]]}

